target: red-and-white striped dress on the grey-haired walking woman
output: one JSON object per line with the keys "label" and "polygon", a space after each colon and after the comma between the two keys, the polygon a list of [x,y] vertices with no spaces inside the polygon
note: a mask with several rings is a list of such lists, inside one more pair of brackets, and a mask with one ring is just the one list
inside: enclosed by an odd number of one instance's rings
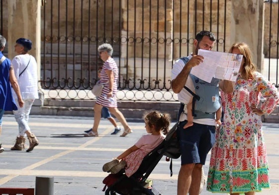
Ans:
{"label": "red-and-white striped dress on the grey-haired walking woman", "polygon": [[[113,90],[112,90],[112,99],[113,102],[110,102],[106,99],[106,94],[109,92],[109,84],[108,84],[108,76],[105,70],[111,70],[114,74],[114,82],[113,82]],[[102,89],[102,94],[97,98],[96,104],[100,104],[104,107],[116,107],[117,108],[117,101],[116,101],[116,92],[117,92],[117,80],[118,80],[118,67],[113,60],[113,58],[108,58],[100,71],[100,82],[105,83]]]}

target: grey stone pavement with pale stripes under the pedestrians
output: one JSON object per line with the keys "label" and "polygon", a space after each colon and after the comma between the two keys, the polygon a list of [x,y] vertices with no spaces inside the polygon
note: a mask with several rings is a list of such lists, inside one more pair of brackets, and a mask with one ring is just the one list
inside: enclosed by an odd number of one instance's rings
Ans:
{"label": "grey stone pavement with pale stripes under the pedestrians", "polygon": [[[146,133],[142,120],[128,122],[133,133],[126,137],[110,135],[113,128],[107,120],[100,122],[99,137],[84,137],[83,131],[92,127],[93,118],[33,115],[29,125],[40,144],[27,153],[9,150],[17,135],[17,124],[12,115],[5,115],[0,137],[5,148],[0,154],[0,188],[35,188],[36,176],[54,177],[54,195],[103,195],[102,180],[107,173],[102,172],[102,165]],[[279,124],[265,123],[264,130],[272,188],[261,194],[278,195]],[[209,156],[204,167],[205,175],[208,165]],[[154,169],[150,179],[162,195],[176,195],[179,168],[180,159],[175,159],[174,175],[170,177],[169,162],[163,157]],[[205,188],[201,194],[213,195]]]}

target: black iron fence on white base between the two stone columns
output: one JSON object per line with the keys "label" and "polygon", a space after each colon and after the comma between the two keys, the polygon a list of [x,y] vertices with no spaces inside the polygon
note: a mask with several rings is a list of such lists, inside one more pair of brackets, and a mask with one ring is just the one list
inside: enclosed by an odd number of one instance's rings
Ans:
{"label": "black iron fence on white base between the two stone columns", "polygon": [[49,0],[42,10],[41,85],[49,98],[94,99],[90,89],[102,63],[97,47],[110,43],[119,65],[118,99],[177,101],[174,61],[192,51],[203,29],[225,51],[226,6],[227,0]]}

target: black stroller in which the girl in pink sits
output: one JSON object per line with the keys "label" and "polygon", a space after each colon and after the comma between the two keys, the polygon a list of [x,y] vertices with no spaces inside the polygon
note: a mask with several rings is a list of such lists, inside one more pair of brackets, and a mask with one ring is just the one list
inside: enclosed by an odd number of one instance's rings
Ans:
{"label": "black stroller in which the girl in pink sits", "polygon": [[[145,188],[144,185],[145,181],[164,155],[171,158],[180,157],[179,143],[176,136],[177,126],[178,123],[168,132],[163,142],[144,157],[139,169],[131,177],[128,178],[124,174],[124,171],[122,174],[118,174],[118,179],[112,185],[108,186],[106,190],[103,190],[105,191],[105,195],[116,195],[116,193],[119,195],[161,195],[153,186],[151,186],[151,188]],[[174,155],[174,153],[176,153],[176,155]]]}

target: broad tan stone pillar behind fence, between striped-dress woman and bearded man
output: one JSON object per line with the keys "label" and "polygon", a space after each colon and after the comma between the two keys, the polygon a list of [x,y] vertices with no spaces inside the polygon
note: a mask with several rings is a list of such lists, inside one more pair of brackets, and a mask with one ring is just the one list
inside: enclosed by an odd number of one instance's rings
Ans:
{"label": "broad tan stone pillar behind fence, between striped-dress woman and bearded man", "polygon": [[[164,0],[151,1],[150,4],[145,1],[143,5],[141,1],[122,2],[121,36],[127,37],[128,41],[121,45],[123,66],[127,68],[121,74],[126,80],[134,80],[137,88],[141,81],[150,78],[161,80],[163,86],[164,79],[171,79],[173,64],[172,44],[165,41],[172,37],[172,1],[166,1],[166,4]],[[155,88],[156,81],[151,82],[151,88]]]}

